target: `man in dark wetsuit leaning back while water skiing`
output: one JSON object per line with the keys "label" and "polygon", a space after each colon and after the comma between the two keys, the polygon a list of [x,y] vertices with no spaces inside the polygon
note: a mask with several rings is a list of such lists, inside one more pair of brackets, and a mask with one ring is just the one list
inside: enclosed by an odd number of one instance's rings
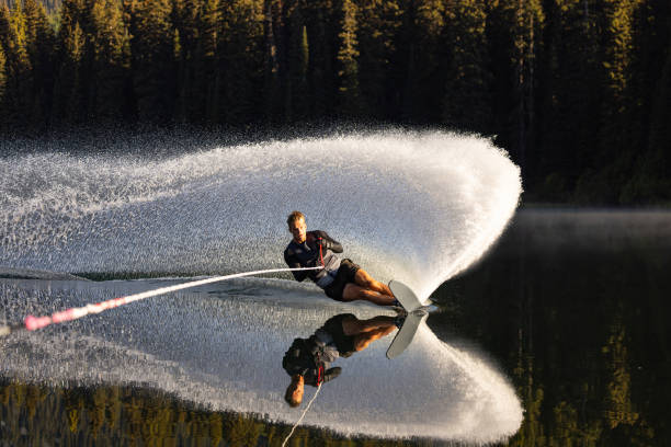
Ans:
{"label": "man in dark wetsuit leaning back while water skiing", "polygon": [[357,299],[378,306],[400,306],[385,284],[371,277],[349,259],[341,260],[342,245],[326,231],[307,231],[305,216],[293,211],[286,219],[294,239],[284,250],[284,261],[291,268],[322,266],[318,271],[292,272],[298,282],[309,277],[326,295],[338,301]]}

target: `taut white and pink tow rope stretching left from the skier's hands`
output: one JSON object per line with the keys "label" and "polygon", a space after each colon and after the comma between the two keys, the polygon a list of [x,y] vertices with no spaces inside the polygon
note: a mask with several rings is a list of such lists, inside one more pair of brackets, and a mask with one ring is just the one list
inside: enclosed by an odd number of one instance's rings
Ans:
{"label": "taut white and pink tow rope stretching left from the skier's hands", "polygon": [[321,270],[322,267],[303,267],[303,268],[269,268],[255,272],[243,272],[235,273],[232,275],[215,276],[212,278],[197,279],[189,283],[177,284],[174,286],[161,287],[153,290],[147,290],[139,294],[128,295],[125,297],[112,298],[105,301],[96,302],[94,305],[87,305],[79,308],[70,308],[60,312],[53,313],[45,317],[33,317],[27,316],[22,324],[12,325],[0,325],[0,336],[9,335],[12,332],[20,330],[36,331],[42,328],[46,328],[50,324],[65,323],[66,321],[72,321],[91,313],[100,313],[107,309],[114,309],[120,306],[128,305],[130,302],[139,301],[145,298],[156,297],[158,295],[169,294],[171,291],[182,290],[190,287],[202,286],[204,284],[218,283],[226,279],[240,278],[243,276],[261,275],[265,273],[276,272],[297,272],[297,271],[310,271]]}

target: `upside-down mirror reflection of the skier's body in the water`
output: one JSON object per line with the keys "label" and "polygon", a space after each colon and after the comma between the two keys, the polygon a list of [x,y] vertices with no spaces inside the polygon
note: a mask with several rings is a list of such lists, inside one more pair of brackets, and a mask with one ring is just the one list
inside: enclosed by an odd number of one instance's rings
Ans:
{"label": "upside-down mirror reflection of the skier's body in the water", "polygon": [[341,313],[330,318],[308,339],[295,339],[282,359],[282,366],[292,377],[284,399],[291,406],[300,405],[305,385],[317,387],[340,375],[342,368],[330,367],[338,357],[365,349],[401,323],[402,317],[359,320],[351,313]]}

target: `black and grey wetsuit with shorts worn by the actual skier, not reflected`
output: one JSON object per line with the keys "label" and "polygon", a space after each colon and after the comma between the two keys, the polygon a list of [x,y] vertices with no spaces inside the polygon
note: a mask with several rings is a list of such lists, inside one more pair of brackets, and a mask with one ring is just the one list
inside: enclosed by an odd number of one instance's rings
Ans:
{"label": "black and grey wetsuit with shorts worn by the actual skier, not reflected", "polygon": [[[321,245],[321,254],[319,252]],[[354,275],[361,268],[352,261],[340,260],[336,253],[342,253],[340,242],[333,240],[326,231],[308,231],[305,242],[292,240],[284,250],[284,261],[291,268],[317,267],[319,271],[292,272],[296,280],[309,277],[331,298],[342,301],[342,291],[348,283],[354,283]],[[323,264],[322,264],[323,260]]]}

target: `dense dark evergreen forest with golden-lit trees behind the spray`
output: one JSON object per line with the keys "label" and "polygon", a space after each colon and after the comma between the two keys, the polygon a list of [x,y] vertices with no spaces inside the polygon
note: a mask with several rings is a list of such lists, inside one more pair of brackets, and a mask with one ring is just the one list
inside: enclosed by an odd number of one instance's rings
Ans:
{"label": "dense dark evergreen forest with golden-lit trees behind the spray", "polygon": [[668,0],[23,0],[0,126],[437,125],[496,136],[532,199],[668,204],[670,48]]}

